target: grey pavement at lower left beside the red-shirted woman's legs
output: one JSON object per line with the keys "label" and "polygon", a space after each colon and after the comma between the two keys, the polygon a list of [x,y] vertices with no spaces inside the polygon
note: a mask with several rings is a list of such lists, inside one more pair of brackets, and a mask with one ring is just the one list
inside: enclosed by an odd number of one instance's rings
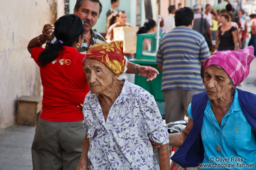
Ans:
{"label": "grey pavement at lower left beside the red-shirted woman's legs", "polygon": [[0,131],[0,170],[32,170],[35,127],[14,125]]}

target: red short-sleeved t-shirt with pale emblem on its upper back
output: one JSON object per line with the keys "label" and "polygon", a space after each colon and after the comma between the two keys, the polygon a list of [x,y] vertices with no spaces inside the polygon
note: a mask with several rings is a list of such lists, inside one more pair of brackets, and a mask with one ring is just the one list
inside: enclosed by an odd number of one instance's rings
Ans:
{"label": "red short-sleeved t-shirt with pale emblem on its upper back", "polygon": [[[43,112],[40,118],[50,121],[83,120],[82,109],[76,105],[84,103],[85,95],[90,91],[83,69],[85,54],[73,47],[63,46],[57,58],[40,66],[43,84]],[[37,62],[42,47],[35,47],[31,57]]]}

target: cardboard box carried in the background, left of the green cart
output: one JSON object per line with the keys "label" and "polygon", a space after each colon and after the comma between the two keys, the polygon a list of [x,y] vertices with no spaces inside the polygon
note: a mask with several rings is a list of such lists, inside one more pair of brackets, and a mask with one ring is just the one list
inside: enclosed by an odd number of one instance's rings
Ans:
{"label": "cardboard box carried in the background, left of the green cart", "polygon": [[124,41],[124,53],[136,53],[137,45],[137,31],[139,27],[130,26],[119,26],[114,27],[114,41],[123,40]]}

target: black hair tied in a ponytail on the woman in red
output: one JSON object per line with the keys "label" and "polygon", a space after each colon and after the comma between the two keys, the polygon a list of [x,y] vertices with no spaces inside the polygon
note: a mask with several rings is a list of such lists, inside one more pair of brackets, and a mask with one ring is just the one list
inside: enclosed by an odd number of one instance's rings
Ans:
{"label": "black hair tied in a ponytail on the woman in red", "polygon": [[40,53],[38,58],[40,66],[56,59],[58,53],[63,50],[63,45],[72,47],[75,42],[78,42],[79,36],[83,36],[85,32],[83,21],[74,14],[60,17],[54,25],[54,34],[57,41],[53,44],[48,43],[48,47]]}

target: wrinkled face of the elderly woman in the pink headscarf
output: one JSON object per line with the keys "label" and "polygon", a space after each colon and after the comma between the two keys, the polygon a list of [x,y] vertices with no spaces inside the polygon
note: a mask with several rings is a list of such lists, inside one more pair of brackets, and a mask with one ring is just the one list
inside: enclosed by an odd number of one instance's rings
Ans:
{"label": "wrinkled face of the elderly woman in the pink headscarf", "polygon": [[231,93],[234,85],[224,69],[211,65],[205,70],[204,86],[209,99],[215,100]]}

